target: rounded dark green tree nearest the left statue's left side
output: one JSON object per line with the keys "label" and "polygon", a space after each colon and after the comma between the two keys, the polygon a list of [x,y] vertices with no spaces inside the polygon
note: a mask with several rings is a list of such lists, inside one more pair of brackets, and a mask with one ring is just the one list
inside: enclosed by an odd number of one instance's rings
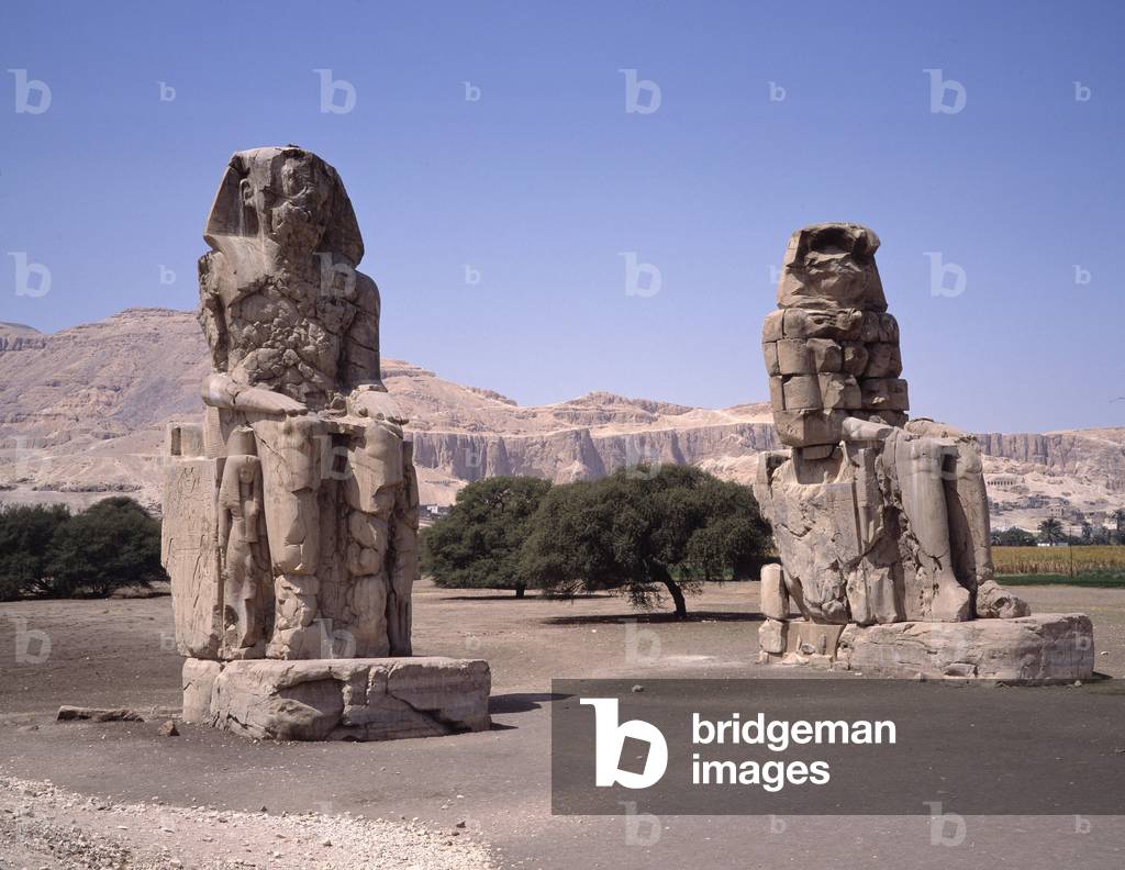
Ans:
{"label": "rounded dark green tree nearest the left statue's left side", "polygon": [[160,522],[123,495],[61,523],[50,553],[40,594],[102,598],[123,586],[147,588],[168,578],[160,564]]}

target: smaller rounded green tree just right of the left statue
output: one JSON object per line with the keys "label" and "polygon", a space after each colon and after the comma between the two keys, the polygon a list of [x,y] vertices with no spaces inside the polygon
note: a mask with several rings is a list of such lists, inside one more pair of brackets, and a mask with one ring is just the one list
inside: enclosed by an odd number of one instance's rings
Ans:
{"label": "smaller rounded green tree just right of the left statue", "polygon": [[422,533],[422,571],[447,589],[512,589],[523,598],[520,547],[551,485],[538,477],[487,477],[457,494]]}

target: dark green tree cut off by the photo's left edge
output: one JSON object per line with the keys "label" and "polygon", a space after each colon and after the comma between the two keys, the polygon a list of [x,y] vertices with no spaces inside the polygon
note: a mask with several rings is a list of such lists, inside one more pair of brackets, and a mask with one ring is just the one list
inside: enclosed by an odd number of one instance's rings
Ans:
{"label": "dark green tree cut off by the photo's left edge", "polygon": [[0,601],[46,591],[51,539],[69,518],[63,504],[0,505]]}

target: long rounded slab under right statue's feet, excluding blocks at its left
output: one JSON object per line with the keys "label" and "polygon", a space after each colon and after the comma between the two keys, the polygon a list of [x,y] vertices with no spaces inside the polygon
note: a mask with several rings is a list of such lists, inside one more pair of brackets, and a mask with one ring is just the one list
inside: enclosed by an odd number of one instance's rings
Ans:
{"label": "long rounded slab under right statue's feet, excluding blocks at its left", "polygon": [[837,661],[873,676],[1088,680],[1094,674],[1094,626],[1084,613],[848,626]]}

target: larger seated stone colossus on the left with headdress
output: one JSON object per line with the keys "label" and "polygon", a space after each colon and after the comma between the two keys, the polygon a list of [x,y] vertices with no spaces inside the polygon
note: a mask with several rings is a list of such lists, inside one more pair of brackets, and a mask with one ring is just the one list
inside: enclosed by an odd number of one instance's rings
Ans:
{"label": "larger seated stone colossus on the left with headdress", "polygon": [[[315,154],[240,152],[204,237],[199,321],[214,370],[201,386],[201,432],[170,432],[164,499],[177,643],[201,662],[377,662],[374,679],[394,670],[382,656],[412,653],[418,500],[406,420],[379,375],[379,290],[357,270],[363,242],[351,200]],[[466,674],[474,691],[487,682],[483,662],[414,664],[411,673],[453,690]],[[277,691],[292,697],[294,674],[306,671],[328,679],[320,665],[290,667]],[[189,661],[186,694],[222,724],[233,681],[250,673],[261,683],[268,666]],[[469,718],[460,724],[477,727],[487,712]],[[369,724],[334,727],[388,736]],[[292,723],[271,727],[288,734]],[[305,732],[335,733],[323,721]]]}

